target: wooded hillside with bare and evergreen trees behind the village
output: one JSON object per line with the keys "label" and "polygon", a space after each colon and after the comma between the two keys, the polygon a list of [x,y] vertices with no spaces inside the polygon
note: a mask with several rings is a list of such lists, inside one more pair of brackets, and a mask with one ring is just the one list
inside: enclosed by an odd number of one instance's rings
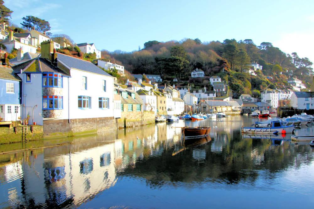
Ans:
{"label": "wooded hillside with bare and evergreen trees behind the village", "polygon": [[[191,72],[200,68],[206,77],[219,75],[233,90],[237,97],[242,93],[258,96],[266,87],[290,88],[288,78],[296,76],[309,88],[311,83],[312,62],[308,58],[300,58],[297,53],[286,54],[269,42],[255,45],[251,39],[226,39],[222,43],[212,41],[202,43],[199,39],[181,41],[148,41],[144,49],[133,52],[103,51],[106,59],[122,63],[133,73],[159,74],[163,83],[187,85],[194,88],[206,86],[211,88],[208,79],[190,79]],[[248,64],[257,62],[263,66],[257,76],[244,71]],[[268,79],[267,79],[268,77]]]}

